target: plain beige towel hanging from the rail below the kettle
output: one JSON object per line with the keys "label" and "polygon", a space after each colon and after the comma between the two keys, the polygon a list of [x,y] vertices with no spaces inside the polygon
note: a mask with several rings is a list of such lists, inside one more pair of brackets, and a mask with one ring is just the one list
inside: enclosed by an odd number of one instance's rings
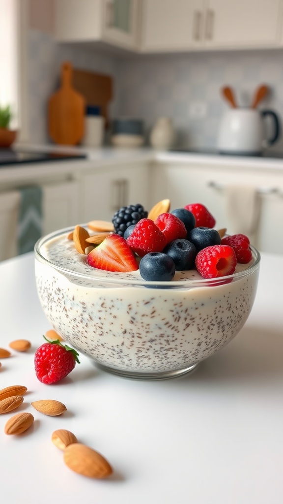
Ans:
{"label": "plain beige towel hanging from the rail below the kettle", "polygon": [[224,188],[229,234],[242,233],[257,246],[260,216],[260,194],[249,185],[227,185]]}

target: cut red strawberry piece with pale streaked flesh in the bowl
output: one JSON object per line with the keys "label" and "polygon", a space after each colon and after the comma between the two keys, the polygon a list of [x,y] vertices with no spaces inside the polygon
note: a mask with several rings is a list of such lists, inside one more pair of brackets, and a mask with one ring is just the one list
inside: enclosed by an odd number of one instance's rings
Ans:
{"label": "cut red strawberry piece with pale streaked flesh in the bowl", "polygon": [[106,271],[135,271],[138,265],[126,240],[118,234],[109,234],[100,245],[88,255],[88,263],[93,268]]}

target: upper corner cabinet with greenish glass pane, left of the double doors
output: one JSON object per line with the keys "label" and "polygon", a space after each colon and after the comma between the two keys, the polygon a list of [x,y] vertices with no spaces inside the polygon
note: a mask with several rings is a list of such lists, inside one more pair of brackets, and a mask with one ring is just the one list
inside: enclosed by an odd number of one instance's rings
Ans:
{"label": "upper corner cabinet with greenish glass pane, left of the double doors", "polygon": [[55,0],[60,42],[105,42],[137,49],[138,0]]}

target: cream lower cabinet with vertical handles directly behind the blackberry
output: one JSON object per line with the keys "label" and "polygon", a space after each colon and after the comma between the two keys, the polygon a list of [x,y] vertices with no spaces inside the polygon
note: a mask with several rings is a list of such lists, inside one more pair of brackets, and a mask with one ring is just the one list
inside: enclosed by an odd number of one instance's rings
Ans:
{"label": "cream lower cabinet with vertical handles directly behind the blackberry", "polygon": [[148,209],[149,175],[144,163],[119,168],[103,168],[81,179],[81,221],[111,221],[118,208],[140,203]]}

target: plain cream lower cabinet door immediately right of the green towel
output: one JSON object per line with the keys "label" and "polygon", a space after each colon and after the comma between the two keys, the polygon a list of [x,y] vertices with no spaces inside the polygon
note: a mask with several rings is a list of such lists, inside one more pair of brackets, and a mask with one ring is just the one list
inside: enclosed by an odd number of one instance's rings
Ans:
{"label": "plain cream lower cabinet door immediately right of the green towel", "polygon": [[43,232],[79,224],[79,185],[76,181],[43,185]]}

